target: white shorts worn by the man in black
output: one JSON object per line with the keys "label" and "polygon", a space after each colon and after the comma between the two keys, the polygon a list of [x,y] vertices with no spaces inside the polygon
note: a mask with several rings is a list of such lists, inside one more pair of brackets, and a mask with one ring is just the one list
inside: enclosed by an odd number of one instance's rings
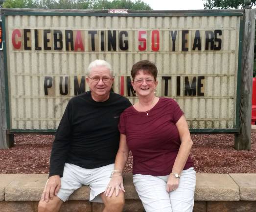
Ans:
{"label": "white shorts worn by the man in black", "polygon": [[89,185],[91,188],[90,201],[103,202],[99,194],[105,191],[113,170],[114,163],[93,169],[65,163],[63,177],[61,178],[61,188],[57,196],[63,202],[66,202],[75,190],[82,185]]}

